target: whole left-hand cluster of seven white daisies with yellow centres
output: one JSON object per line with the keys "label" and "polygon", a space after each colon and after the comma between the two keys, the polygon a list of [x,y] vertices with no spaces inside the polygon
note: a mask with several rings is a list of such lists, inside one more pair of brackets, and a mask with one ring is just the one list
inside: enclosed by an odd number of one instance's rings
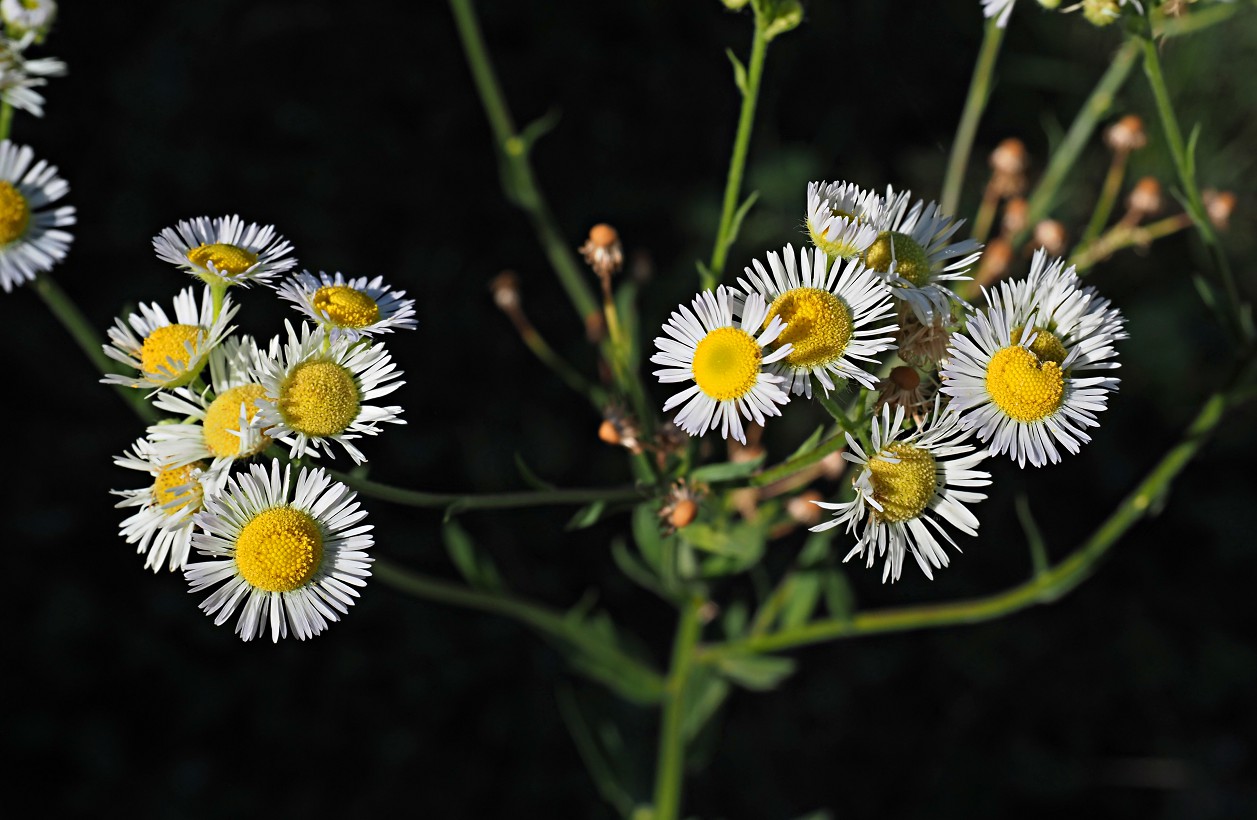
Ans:
{"label": "whole left-hand cluster of seven white daisies with yellow centres", "polygon": [[[377,402],[403,384],[377,337],[415,327],[414,299],[380,277],[294,273],[292,245],[239,216],[181,221],[153,250],[199,284],[109,330],[104,352],[126,370],[102,381],[145,390],[170,415],[114,459],[147,474],[116,490],[133,509],[121,533],[147,568],[215,587],[201,609],[216,624],[239,611],[244,640],[317,635],[357,597],[372,536],[353,490],[307,462],[343,452],[362,464],[357,440],[402,423]],[[300,324],[266,342],[236,333],[229,291],[254,284]]]}

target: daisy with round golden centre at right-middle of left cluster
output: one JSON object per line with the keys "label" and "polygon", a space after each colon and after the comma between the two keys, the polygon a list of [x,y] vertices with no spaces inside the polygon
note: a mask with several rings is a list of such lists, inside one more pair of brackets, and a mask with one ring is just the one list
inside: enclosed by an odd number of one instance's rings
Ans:
{"label": "daisy with round golden centre at right-middle of left cluster", "polygon": [[289,445],[290,455],[332,454],[332,444],[344,448],[354,464],[366,457],[351,441],[380,433],[380,424],[406,424],[401,407],[367,404],[401,387],[401,371],[383,345],[332,341],[323,328],[302,323],[298,333],[288,328],[288,341],[270,342],[260,358],[265,400],[260,424],[273,439]]}

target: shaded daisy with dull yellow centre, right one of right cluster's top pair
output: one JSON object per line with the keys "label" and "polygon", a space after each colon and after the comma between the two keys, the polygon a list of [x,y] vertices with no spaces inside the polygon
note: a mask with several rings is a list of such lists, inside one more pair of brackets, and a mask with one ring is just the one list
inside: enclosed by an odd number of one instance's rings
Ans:
{"label": "shaded daisy with dull yellow centre, right one of right cluster's top pair", "polygon": [[933,324],[938,316],[949,316],[952,303],[960,298],[944,284],[968,279],[965,272],[982,255],[974,239],[950,241],[964,220],[943,214],[934,202],[908,208],[909,196],[886,191],[887,208],[875,226],[877,239],[865,250],[866,265],[885,274],[891,293],[913,308],[921,324]]}

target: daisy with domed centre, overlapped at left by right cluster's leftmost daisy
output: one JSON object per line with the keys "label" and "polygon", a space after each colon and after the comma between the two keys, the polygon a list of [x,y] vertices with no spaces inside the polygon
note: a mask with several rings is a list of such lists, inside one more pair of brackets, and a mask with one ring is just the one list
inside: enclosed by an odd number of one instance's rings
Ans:
{"label": "daisy with domed centre, overlapped at left by right cluster's leftmost daisy", "polygon": [[[823,250],[786,245],[782,257],[768,254],[768,268],[753,260],[738,284],[768,303],[767,319],[781,318],[786,328],[776,345],[791,351],[772,366],[791,392],[812,397],[812,377],[828,394],[835,379],[854,379],[872,387],[877,377],[857,362],[876,363],[876,353],[894,350],[895,311],[885,284],[859,259],[830,267]],[[743,321],[745,326],[745,321]]]}

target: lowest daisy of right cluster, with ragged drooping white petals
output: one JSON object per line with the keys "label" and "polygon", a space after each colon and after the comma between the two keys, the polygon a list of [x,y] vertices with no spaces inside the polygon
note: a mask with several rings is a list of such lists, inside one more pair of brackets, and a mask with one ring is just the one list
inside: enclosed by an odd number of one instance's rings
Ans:
{"label": "lowest daisy of right cluster, with ragged drooping white petals", "polygon": [[904,556],[909,552],[925,577],[933,580],[931,567],[945,567],[949,561],[935,536],[957,546],[941,522],[965,535],[978,535],[978,519],[965,504],[985,496],[960,488],[991,483],[991,473],[974,469],[989,453],[974,452],[977,448],[965,443],[968,436],[954,413],[940,411],[938,400],[929,424],[908,435],[904,434],[904,407],[891,416],[890,406],[882,406],[881,423],[876,416],[872,420],[870,453],[847,434],[850,450],[842,457],[862,465],[851,482],[855,499],[815,502],[832,509],[833,518],[812,527],[812,532],[838,524],[846,524],[847,532],[857,532],[859,542],[845,560],[864,556],[866,566],[871,567],[882,558],[882,582],[899,580]]}

